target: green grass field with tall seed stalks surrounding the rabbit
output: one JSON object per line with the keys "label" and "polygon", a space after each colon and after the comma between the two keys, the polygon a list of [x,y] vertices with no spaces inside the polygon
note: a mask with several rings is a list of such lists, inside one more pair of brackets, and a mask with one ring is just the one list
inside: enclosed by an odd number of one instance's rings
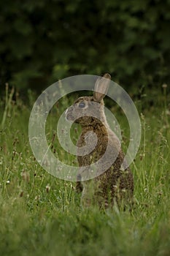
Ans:
{"label": "green grass field with tall seed stalks surrounding the rabbit", "polygon": [[[164,90],[164,91],[163,91]],[[25,105],[7,91],[0,112],[0,255],[170,255],[170,106],[166,88],[150,105],[134,99],[142,122],[142,140],[131,170],[133,211],[82,209],[74,183],[54,178],[34,159],[28,142],[28,118],[34,97]],[[72,98],[69,99],[72,102]],[[47,140],[68,99],[47,119]],[[128,141],[128,124],[116,107]],[[74,140],[77,133],[72,129]],[[66,162],[75,159],[59,150]]]}

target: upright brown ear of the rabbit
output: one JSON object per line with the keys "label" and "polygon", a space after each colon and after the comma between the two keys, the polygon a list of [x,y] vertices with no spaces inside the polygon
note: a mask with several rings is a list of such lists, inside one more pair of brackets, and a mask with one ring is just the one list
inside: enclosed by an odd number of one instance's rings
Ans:
{"label": "upright brown ear of the rabbit", "polygon": [[104,74],[102,78],[98,78],[96,80],[93,92],[93,97],[96,100],[96,102],[101,102],[101,99],[103,99],[104,96],[107,94],[110,79],[111,75]]}

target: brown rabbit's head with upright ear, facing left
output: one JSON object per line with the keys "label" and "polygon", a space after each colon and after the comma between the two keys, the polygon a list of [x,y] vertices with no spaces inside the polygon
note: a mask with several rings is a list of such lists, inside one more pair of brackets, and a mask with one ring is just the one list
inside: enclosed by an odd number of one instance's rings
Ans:
{"label": "brown rabbit's head with upright ear, facing left", "polygon": [[66,119],[88,127],[96,122],[105,122],[103,98],[109,89],[110,75],[96,80],[92,97],[80,97],[66,110]]}

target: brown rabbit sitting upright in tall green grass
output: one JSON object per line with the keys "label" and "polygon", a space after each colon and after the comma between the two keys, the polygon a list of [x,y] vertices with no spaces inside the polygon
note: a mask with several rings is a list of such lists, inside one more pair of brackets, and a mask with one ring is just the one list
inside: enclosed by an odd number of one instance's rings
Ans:
{"label": "brown rabbit sitting upright in tall green grass", "polygon": [[[115,132],[109,128],[104,114],[103,98],[109,89],[110,79],[111,76],[108,73],[102,78],[99,77],[94,86],[93,96],[78,98],[66,110],[66,119],[74,121],[74,123],[80,124],[82,127],[82,133],[77,141],[77,148],[81,149],[85,146],[88,132],[94,132],[97,136],[97,143],[93,151],[86,155],[79,155],[79,149],[77,151],[80,173],[77,175],[76,189],[77,192],[82,192],[81,204],[83,207],[98,205],[100,208],[107,208],[114,206],[116,203],[117,206],[125,208],[127,204],[131,205],[133,202],[134,178],[129,167],[125,170],[120,168],[124,159],[120,140],[115,135]],[[88,113],[88,115],[85,116],[85,113]],[[92,113],[91,116],[90,113]],[[110,138],[110,141],[108,138]],[[93,136],[91,139],[93,140]],[[98,161],[98,159],[101,159],[108,144],[108,158],[112,160],[115,157],[115,161],[100,175],[81,181],[82,167],[89,166],[93,162]],[[98,166],[104,167],[107,165],[107,161],[108,159],[105,158],[101,165]]]}

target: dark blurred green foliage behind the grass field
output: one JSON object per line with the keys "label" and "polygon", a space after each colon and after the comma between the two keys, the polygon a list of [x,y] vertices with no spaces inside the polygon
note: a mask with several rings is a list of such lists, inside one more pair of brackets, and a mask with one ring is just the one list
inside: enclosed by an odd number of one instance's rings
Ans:
{"label": "dark blurred green foliage behind the grass field", "polygon": [[169,83],[170,0],[0,1],[0,86],[37,92],[72,75],[141,91]]}

